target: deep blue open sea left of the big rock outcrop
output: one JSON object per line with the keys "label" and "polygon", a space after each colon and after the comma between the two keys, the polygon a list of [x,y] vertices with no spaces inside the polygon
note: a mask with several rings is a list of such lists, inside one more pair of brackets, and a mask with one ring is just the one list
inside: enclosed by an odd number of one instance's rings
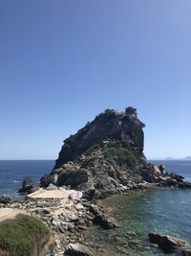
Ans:
{"label": "deep blue open sea left of the big rock outcrop", "polygon": [[50,174],[53,165],[53,160],[0,160],[0,195],[23,198],[17,191],[22,187],[24,178],[30,176],[39,183],[43,175]]}

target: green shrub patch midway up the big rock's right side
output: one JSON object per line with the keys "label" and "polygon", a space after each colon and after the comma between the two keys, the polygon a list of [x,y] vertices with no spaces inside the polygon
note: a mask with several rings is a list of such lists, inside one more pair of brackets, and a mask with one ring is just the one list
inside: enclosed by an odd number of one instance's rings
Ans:
{"label": "green shrub patch midway up the big rock's right side", "polygon": [[115,160],[115,162],[120,165],[126,165],[128,167],[133,167],[136,164],[136,157],[132,153],[124,148],[108,148],[104,151],[104,155],[108,159]]}

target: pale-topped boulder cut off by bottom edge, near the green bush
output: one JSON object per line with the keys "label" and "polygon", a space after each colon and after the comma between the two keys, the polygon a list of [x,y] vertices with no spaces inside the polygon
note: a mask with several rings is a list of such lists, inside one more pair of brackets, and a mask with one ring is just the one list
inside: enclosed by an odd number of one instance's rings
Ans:
{"label": "pale-topped boulder cut off by bottom edge, near the green bush", "polygon": [[91,250],[83,244],[69,244],[64,252],[66,256],[93,256]]}

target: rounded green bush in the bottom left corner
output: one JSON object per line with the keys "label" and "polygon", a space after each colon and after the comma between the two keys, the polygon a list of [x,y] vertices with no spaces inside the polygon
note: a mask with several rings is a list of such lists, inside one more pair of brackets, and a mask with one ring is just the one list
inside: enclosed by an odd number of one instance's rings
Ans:
{"label": "rounded green bush in the bottom left corner", "polygon": [[0,225],[0,256],[38,255],[49,235],[49,228],[42,221],[18,215]]}

